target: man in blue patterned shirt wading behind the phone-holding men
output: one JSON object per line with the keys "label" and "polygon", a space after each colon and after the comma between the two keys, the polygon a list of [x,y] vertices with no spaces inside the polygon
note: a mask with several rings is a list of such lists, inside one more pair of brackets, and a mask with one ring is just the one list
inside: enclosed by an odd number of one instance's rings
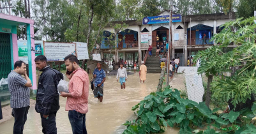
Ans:
{"label": "man in blue patterned shirt wading behind the phone-holding men", "polygon": [[106,73],[102,69],[102,63],[97,63],[97,68],[93,72],[94,78],[94,98],[98,98],[100,102],[103,100],[103,83],[106,80]]}

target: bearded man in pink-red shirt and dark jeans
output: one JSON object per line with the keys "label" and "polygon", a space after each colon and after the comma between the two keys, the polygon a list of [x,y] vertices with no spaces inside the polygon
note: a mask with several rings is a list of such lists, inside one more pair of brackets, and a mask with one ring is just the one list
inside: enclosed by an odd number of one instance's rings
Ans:
{"label": "bearded man in pink-red shirt and dark jeans", "polygon": [[76,56],[68,55],[64,58],[66,70],[70,75],[69,93],[61,92],[61,96],[68,97],[66,111],[74,134],[87,134],[86,113],[88,112],[89,77],[86,71],[79,66]]}

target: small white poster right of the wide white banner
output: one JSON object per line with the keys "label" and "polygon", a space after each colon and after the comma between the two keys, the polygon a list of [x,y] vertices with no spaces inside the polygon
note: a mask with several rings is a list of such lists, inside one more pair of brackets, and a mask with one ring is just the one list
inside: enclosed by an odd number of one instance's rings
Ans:
{"label": "small white poster right of the wide white banner", "polygon": [[83,42],[75,42],[75,43],[77,43],[77,59],[79,60],[89,59],[87,43],[83,43]]}

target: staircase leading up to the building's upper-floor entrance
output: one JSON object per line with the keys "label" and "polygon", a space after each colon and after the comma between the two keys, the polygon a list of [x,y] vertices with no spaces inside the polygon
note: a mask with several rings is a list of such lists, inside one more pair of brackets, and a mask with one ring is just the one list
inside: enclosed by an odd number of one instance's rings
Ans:
{"label": "staircase leading up to the building's upper-floor entrance", "polygon": [[153,57],[147,56],[147,61],[145,64],[147,66],[147,73],[161,73],[159,57],[155,57],[156,56],[155,47],[153,47],[152,55]]}

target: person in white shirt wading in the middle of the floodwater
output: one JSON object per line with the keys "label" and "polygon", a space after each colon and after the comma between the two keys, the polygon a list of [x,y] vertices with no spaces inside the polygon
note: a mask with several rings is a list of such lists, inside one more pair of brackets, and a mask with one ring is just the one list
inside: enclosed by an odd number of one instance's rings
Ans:
{"label": "person in white shirt wading in the middle of the floodwater", "polygon": [[124,64],[120,63],[120,68],[117,70],[117,75],[116,75],[116,81],[118,82],[118,77],[119,77],[119,82],[121,84],[121,89],[125,89],[125,82],[127,80],[127,72],[126,68],[123,68]]}

